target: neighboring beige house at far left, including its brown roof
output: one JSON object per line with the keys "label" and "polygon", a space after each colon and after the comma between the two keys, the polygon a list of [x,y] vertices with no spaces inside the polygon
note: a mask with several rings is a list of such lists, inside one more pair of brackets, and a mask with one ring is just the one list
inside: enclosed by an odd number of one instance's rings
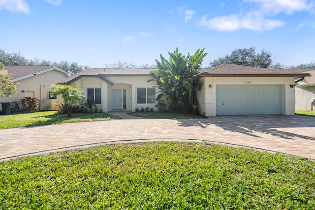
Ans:
{"label": "neighboring beige house at far left, including its brown roof", "polygon": [[50,86],[69,77],[62,69],[51,65],[7,65],[2,73],[10,73],[12,81],[19,84],[16,86],[17,93],[11,97],[0,97],[0,103],[18,102],[30,96],[39,100],[39,110],[55,109],[55,103],[60,100],[50,97]]}

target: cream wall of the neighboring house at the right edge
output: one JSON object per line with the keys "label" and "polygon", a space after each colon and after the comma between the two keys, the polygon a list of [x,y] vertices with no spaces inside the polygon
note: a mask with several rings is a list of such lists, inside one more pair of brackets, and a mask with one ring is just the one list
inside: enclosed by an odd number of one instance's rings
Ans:
{"label": "cream wall of the neighboring house at the right edge", "polygon": [[[312,98],[315,98],[315,86],[297,87],[295,86],[295,108],[301,110],[312,110],[310,104]],[[313,110],[315,106],[313,105]]]}

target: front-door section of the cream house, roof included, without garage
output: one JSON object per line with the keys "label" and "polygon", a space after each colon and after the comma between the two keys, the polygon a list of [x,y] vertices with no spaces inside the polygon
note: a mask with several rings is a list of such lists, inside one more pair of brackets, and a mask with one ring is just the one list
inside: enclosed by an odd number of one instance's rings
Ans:
{"label": "front-door section of the cream house, roof included, without garage", "polygon": [[62,84],[83,89],[86,99],[93,100],[102,112],[135,111],[149,107],[157,110],[157,82],[153,69],[87,69],[63,81]]}

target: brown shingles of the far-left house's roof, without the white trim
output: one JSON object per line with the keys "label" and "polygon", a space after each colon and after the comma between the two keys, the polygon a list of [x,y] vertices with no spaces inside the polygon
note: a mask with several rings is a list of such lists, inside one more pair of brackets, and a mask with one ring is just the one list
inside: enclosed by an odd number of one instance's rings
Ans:
{"label": "brown shingles of the far-left house's roof, without the white trim", "polygon": [[57,67],[52,66],[52,65],[6,65],[4,66],[5,72],[11,74],[11,79],[24,77],[27,75],[35,74],[37,72],[44,71],[47,69],[53,69],[53,68],[57,69]]}

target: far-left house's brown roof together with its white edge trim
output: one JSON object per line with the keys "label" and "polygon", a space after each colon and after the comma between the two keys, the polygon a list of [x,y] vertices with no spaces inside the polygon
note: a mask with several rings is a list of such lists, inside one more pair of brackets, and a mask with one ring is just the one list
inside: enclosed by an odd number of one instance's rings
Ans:
{"label": "far-left house's brown roof together with its white edge trim", "polygon": [[53,65],[6,65],[2,73],[9,73],[13,81],[18,81],[50,70],[58,70],[67,75],[65,71]]}

